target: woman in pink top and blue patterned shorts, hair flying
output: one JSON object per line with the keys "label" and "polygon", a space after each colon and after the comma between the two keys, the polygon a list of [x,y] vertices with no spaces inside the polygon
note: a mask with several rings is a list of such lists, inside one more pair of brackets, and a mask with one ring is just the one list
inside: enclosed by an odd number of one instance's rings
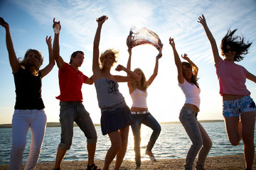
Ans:
{"label": "woman in pink top and blue patterned shorts, hair flying", "polygon": [[245,80],[250,79],[256,83],[255,75],[244,67],[235,64],[240,62],[247,54],[252,43],[245,43],[243,38],[234,36],[236,30],[228,30],[221,41],[221,54],[219,53],[215,39],[206,24],[206,18],[199,16],[206,35],[210,40],[216,73],[220,82],[220,94],[223,96],[223,116],[231,145],[239,145],[242,139],[244,143],[245,168],[252,169],[255,156],[254,131],[255,131],[255,102],[250,98],[250,91],[246,89]]}

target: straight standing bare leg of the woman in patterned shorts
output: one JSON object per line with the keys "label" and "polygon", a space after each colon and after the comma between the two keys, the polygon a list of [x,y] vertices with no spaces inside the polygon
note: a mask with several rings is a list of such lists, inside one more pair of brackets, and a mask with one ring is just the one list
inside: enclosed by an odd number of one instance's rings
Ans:
{"label": "straight standing bare leg of the woman in patterned shorts", "polygon": [[254,132],[256,112],[241,113],[242,141],[244,143],[245,167],[252,169],[255,157]]}

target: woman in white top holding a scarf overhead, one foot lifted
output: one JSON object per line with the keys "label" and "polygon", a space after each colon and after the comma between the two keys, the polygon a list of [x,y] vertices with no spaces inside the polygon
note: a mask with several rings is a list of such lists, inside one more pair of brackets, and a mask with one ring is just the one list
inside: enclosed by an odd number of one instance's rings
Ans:
{"label": "woman in white top holding a scarf overhead, one foot lifted", "polygon": [[[127,62],[127,69],[131,69],[131,60],[132,60],[132,50],[128,49],[129,52],[129,60]],[[132,132],[134,135],[134,152],[135,152],[135,161],[136,161],[136,169],[140,169],[141,166],[141,154],[140,154],[140,142],[141,142],[141,127],[142,124],[148,126],[153,130],[149,143],[146,145],[146,154],[149,155],[149,158],[152,162],[155,162],[156,159],[154,157],[154,154],[151,152],[151,149],[154,147],[154,144],[157,140],[157,138],[160,135],[161,132],[161,126],[157,122],[157,120],[149,113],[148,108],[146,106],[146,96],[147,92],[146,89],[150,86],[150,84],[154,81],[156,78],[158,67],[159,67],[159,59],[161,58],[161,53],[156,57],[156,64],[154,67],[154,73],[151,75],[151,77],[146,80],[146,77],[144,73],[142,72],[142,69],[134,69],[134,72],[139,75],[138,81],[129,81],[128,87],[129,87],[129,94],[132,97],[132,120],[133,124]]]}

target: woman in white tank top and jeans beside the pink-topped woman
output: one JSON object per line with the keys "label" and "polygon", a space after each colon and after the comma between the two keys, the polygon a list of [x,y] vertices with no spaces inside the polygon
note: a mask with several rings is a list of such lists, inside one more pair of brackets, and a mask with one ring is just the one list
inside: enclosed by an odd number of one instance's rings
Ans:
{"label": "woman in white tank top and jeans beside the pink-topped woman", "polygon": [[191,148],[188,150],[186,156],[184,167],[185,169],[193,169],[193,162],[199,152],[196,169],[203,169],[212,142],[206,130],[196,118],[200,106],[200,88],[197,83],[198,67],[196,67],[196,64],[186,54],[181,55],[181,57],[188,62],[181,62],[176,51],[174,38],[170,38],[169,43],[174,50],[174,60],[178,69],[178,86],[181,87],[181,90],[186,96],[186,102],[183,108],[181,108],[179,119],[192,142]]}

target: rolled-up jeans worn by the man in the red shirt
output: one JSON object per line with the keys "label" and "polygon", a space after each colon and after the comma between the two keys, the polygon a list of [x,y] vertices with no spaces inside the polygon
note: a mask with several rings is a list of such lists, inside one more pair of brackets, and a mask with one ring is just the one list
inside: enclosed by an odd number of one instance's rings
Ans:
{"label": "rolled-up jeans worn by the man in the red shirt", "polygon": [[58,145],[60,149],[70,149],[73,139],[74,122],[77,123],[82,132],[85,133],[87,143],[94,144],[97,142],[95,126],[82,102],[62,101],[60,102],[61,135],[60,144]]}

